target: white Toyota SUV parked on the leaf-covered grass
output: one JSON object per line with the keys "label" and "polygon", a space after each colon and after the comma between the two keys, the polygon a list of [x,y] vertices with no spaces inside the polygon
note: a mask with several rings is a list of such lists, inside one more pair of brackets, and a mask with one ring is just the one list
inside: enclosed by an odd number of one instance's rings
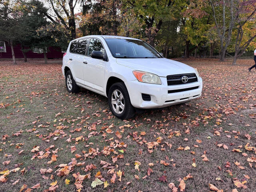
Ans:
{"label": "white Toyota SUV parked on the leaf-covered grass", "polygon": [[162,57],[146,42],[120,36],[72,40],[63,56],[68,92],[79,87],[108,97],[112,113],[131,118],[135,108],[162,108],[200,97],[196,69]]}

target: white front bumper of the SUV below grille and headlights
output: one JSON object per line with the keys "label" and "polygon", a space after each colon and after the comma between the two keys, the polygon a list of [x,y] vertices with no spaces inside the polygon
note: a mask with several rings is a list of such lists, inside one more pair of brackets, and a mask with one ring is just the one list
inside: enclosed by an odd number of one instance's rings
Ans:
{"label": "white front bumper of the SUV below grille and headlights", "polygon": [[[187,102],[192,99],[199,98],[202,93],[202,78],[198,77],[198,82],[168,86],[166,77],[160,77],[162,84],[149,84],[138,82],[138,80],[125,82],[128,90],[132,106],[136,108],[162,108],[174,104]],[[197,89],[169,93],[168,90],[178,90],[191,87],[197,87]],[[141,94],[149,94],[150,101],[142,100]]]}

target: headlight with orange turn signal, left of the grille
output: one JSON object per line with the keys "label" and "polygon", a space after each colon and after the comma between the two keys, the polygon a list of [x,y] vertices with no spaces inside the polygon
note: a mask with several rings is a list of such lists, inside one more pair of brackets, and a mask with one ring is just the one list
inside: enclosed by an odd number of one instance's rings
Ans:
{"label": "headlight with orange turn signal, left of the grille", "polygon": [[160,78],[155,74],[145,71],[133,71],[132,73],[139,82],[161,84]]}

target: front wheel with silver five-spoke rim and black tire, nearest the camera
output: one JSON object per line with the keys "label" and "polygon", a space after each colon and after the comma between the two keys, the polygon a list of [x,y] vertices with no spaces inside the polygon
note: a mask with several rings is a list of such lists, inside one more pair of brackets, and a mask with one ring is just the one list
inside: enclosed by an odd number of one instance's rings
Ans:
{"label": "front wheel with silver five-spoke rim and black tire, nearest the camera", "polygon": [[108,104],[112,114],[117,118],[124,120],[134,116],[135,109],[131,104],[130,96],[124,83],[114,83],[110,87]]}

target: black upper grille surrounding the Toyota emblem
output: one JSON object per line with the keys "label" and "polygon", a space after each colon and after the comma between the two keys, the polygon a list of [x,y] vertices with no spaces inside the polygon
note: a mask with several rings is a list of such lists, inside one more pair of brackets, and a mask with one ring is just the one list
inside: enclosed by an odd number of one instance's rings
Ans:
{"label": "black upper grille surrounding the Toyota emblem", "polygon": [[[183,76],[188,77],[188,81],[186,83],[182,82],[182,80],[181,80]],[[195,73],[168,75],[168,76],[166,76],[166,78],[167,78],[168,85],[180,85],[180,84],[197,82],[197,77],[196,77]]]}

